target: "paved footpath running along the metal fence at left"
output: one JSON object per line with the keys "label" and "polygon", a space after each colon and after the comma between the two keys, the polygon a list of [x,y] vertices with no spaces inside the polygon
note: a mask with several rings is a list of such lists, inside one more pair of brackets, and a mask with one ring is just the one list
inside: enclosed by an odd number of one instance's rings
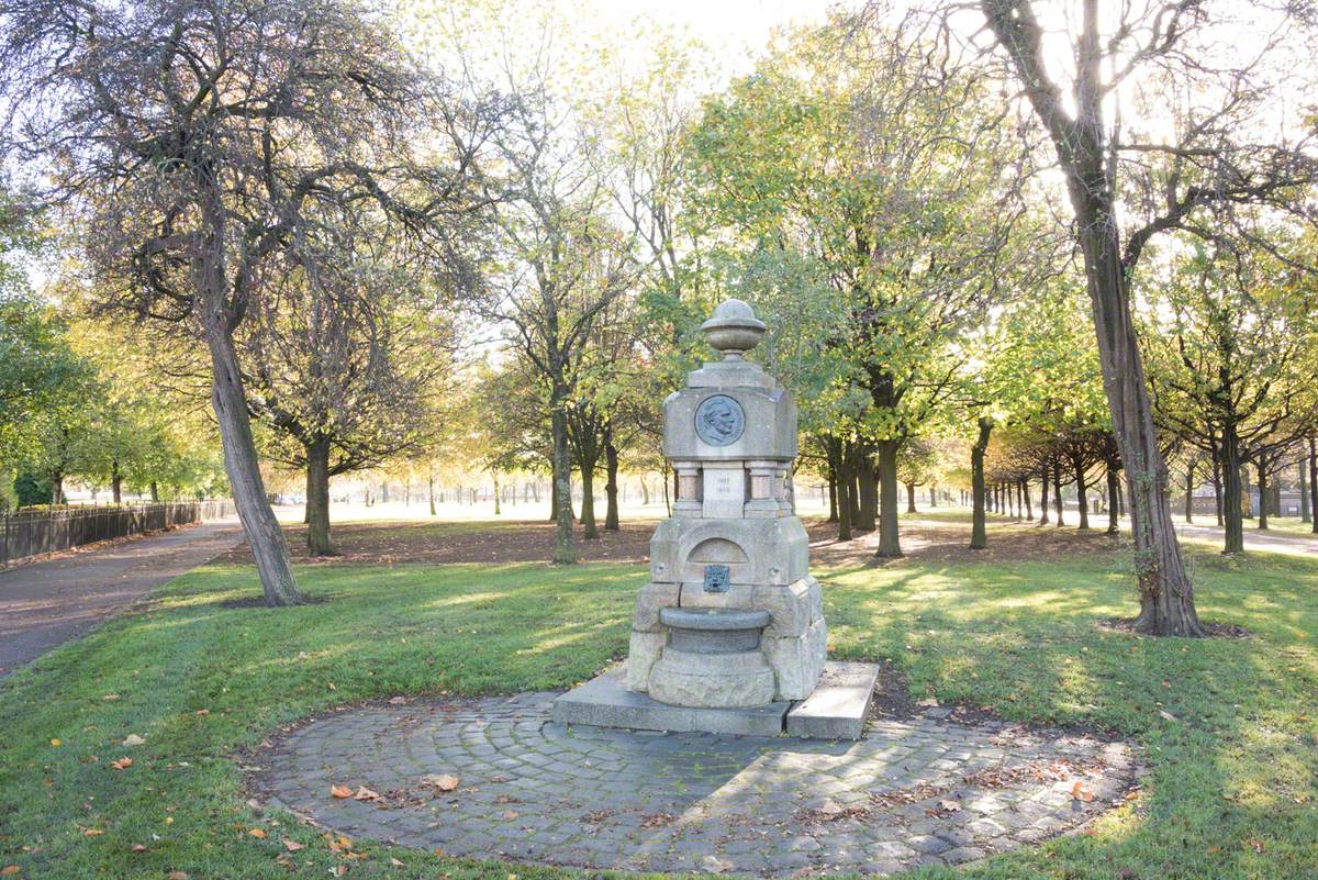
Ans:
{"label": "paved footpath running along the metal fence at left", "polygon": [[219,519],[0,570],[0,678],[241,540]]}

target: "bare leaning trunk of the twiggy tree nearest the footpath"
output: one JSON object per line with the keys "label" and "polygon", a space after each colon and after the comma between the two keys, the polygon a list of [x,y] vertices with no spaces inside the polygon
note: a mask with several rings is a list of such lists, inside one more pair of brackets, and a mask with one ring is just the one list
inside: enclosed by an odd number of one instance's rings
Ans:
{"label": "bare leaning trunk of the twiggy tree nearest the footpath", "polygon": [[[221,319],[212,319],[217,320]],[[302,593],[289,561],[289,543],[261,480],[233,339],[224,325],[211,325],[207,327],[206,343],[211,352],[211,407],[220,428],[224,472],[229,477],[243,531],[252,547],[266,605],[299,605]]]}

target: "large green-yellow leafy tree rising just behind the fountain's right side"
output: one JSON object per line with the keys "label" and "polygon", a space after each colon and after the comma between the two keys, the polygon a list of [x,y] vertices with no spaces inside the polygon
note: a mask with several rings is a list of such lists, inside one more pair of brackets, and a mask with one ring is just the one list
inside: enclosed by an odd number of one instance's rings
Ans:
{"label": "large green-yellow leafy tree rising just behind the fountain's right side", "polygon": [[[850,505],[840,531],[876,519],[879,556],[902,555],[898,453],[950,406],[966,356],[957,341],[998,292],[1020,212],[996,170],[1007,134],[981,112],[982,83],[931,75],[921,58],[834,21],[708,101],[691,137],[696,204],[724,242],[730,286],[745,295],[747,281],[772,281],[808,296],[783,310],[788,321],[833,311],[824,344],[807,339],[840,352],[836,381],[867,398],[832,441]],[[850,395],[824,395],[838,398]]]}

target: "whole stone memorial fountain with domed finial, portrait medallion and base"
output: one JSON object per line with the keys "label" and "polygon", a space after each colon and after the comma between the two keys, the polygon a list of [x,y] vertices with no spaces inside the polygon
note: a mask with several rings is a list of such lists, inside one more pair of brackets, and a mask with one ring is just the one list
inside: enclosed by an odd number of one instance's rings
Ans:
{"label": "whole stone memorial fountain with domed finial, portrait medallion and base", "polygon": [[764,324],[729,299],[701,325],[722,358],[664,400],[672,516],[650,540],[627,663],[555,718],[645,730],[858,738],[876,668],[829,664],[820,584],[792,503],[796,404],[745,354]]}

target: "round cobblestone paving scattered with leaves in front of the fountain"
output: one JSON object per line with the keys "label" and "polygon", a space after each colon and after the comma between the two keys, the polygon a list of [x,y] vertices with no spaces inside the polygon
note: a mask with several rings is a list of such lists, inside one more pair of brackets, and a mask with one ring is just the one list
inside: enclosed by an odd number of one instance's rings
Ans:
{"label": "round cobblestone paving scattered with leaves in front of the fountain", "polygon": [[948,709],[853,743],[567,727],[555,696],[344,710],[275,743],[252,784],[341,834],[456,856],[787,876],[1037,843],[1123,802],[1137,773],[1123,743]]}

